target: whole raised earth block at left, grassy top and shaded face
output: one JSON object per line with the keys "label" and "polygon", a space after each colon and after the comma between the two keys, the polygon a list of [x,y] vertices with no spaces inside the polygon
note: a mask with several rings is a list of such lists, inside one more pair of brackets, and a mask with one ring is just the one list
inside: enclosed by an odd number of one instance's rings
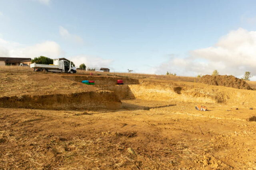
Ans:
{"label": "whole raised earth block at left, grassy top and shaded face", "polygon": [[114,92],[72,82],[60,74],[0,74],[0,107],[30,109],[120,109]]}

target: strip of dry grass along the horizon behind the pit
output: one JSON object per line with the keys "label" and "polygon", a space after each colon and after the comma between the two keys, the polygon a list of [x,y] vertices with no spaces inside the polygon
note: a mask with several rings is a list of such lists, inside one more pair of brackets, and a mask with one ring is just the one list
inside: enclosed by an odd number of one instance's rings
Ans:
{"label": "strip of dry grass along the horizon behind the pit", "polygon": [[128,78],[152,78],[162,80],[176,80],[184,82],[198,82],[200,78],[197,77],[186,77],[186,76],[171,76],[171,75],[156,75],[156,74],[140,74],[140,73],[127,73],[127,72],[93,72],[85,70],[77,70],[78,74],[89,75],[92,72],[94,75],[107,75],[107,76],[120,76]]}

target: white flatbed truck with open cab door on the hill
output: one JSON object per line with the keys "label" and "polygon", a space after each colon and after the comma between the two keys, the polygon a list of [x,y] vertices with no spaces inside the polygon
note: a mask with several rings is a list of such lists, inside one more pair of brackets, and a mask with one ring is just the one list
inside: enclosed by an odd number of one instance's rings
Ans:
{"label": "white flatbed truck with open cab door on the hill", "polygon": [[53,64],[49,65],[32,63],[30,67],[34,68],[34,71],[76,73],[76,67],[64,58],[54,59]]}

